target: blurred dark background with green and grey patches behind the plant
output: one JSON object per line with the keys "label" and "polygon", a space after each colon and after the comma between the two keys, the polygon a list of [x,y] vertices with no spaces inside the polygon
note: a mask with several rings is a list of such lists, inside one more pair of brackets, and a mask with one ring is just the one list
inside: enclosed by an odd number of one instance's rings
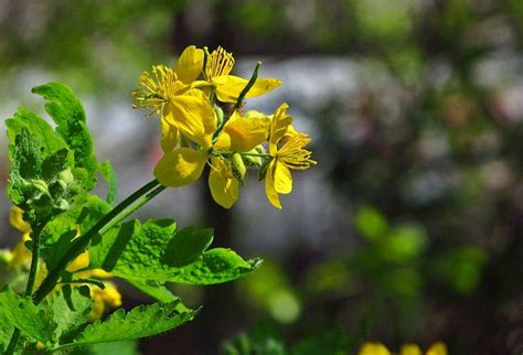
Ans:
{"label": "blurred dark background with green and grey patches behind the plant", "polygon": [[[282,211],[250,176],[230,211],[202,182],[140,212],[214,227],[215,246],[266,260],[230,284],[173,287],[204,309],[142,354],[236,354],[242,332],[275,348],[330,334],[345,348],[523,352],[523,1],[0,0],[0,114],[44,115],[30,89],[70,85],[122,200],[161,155],[130,92],[190,44],[233,52],[237,75],[262,60],[262,76],[281,78],[247,108],[289,103],[318,166],[295,174]],[[2,194],[3,248],[20,238],[9,207]],[[126,308],[148,301],[120,289]]]}

